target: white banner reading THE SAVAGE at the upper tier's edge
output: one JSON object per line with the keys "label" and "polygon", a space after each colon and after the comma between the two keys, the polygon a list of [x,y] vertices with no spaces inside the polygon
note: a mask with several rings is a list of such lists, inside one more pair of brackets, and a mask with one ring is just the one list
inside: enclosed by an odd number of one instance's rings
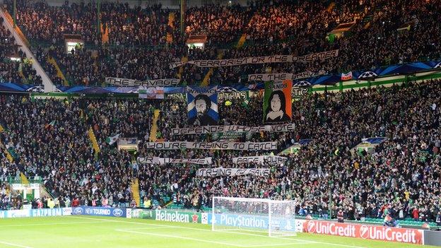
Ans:
{"label": "white banner reading THE SAVAGE at the upper tier's edge", "polygon": [[175,86],[180,82],[179,78],[165,78],[165,79],[151,79],[151,80],[136,80],[129,78],[105,78],[105,82],[115,86],[127,86],[127,87],[170,87]]}

